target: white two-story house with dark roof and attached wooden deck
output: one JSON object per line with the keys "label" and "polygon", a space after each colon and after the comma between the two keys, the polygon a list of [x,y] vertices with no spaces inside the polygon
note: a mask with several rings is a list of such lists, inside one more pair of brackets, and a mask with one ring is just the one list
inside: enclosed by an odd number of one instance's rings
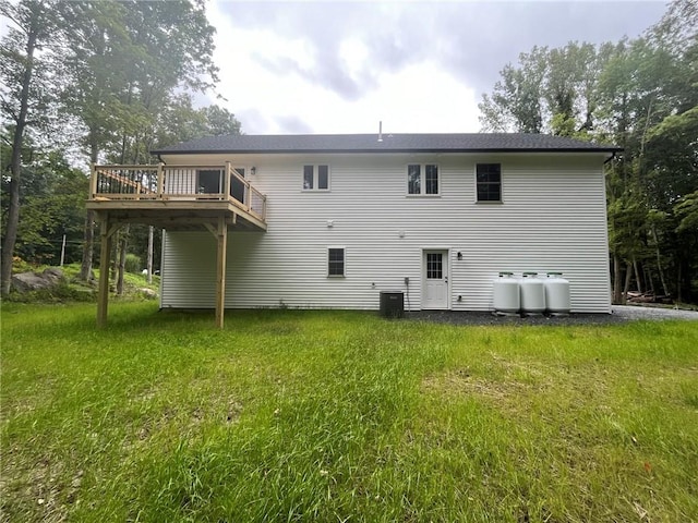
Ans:
{"label": "white two-story house with dark roof and attached wooden deck", "polygon": [[381,291],[411,311],[490,311],[500,271],[561,271],[573,312],[610,313],[603,165],[618,150],[538,134],[218,136],[155,150],[159,166],[96,166],[88,207],[105,240],[163,227],[161,307],[216,308],[219,325],[224,308],[377,309]]}

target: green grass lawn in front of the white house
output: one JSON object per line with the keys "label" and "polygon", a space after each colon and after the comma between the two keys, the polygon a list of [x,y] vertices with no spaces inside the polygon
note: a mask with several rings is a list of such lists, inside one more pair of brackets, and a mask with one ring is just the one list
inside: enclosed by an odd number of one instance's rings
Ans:
{"label": "green grass lawn in front of the white house", "polygon": [[4,304],[2,521],[698,521],[698,323]]}

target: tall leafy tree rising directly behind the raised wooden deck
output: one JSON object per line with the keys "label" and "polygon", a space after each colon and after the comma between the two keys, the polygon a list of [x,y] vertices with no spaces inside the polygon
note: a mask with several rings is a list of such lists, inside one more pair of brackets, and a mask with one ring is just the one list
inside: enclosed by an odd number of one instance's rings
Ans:
{"label": "tall leafy tree rising directly behind the raised wooden deck", "polygon": [[[84,127],[92,162],[147,162],[144,139],[176,90],[209,88],[214,28],[203,1],[62,2],[70,88],[63,102]],[[94,218],[85,221],[81,276],[92,269]],[[122,251],[125,253],[123,243]]]}

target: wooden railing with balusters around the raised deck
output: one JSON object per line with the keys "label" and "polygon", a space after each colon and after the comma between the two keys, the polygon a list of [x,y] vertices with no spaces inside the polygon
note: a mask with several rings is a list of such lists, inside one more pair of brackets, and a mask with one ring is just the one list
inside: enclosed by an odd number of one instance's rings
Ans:
{"label": "wooden railing with balusters around the raised deck", "polygon": [[266,219],[266,196],[225,166],[93,166],[92,200],[228,202]]}

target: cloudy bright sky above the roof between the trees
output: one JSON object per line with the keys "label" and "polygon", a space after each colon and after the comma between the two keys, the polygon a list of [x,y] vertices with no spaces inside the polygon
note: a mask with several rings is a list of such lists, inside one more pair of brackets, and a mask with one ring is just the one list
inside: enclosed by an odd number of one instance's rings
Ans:
{"label": "cloudy bright sky above the roof between the trees", "polygon": [[214,100],[245,134],[478,132],[478,102],[533,46],[639,36],[660,1],[207,3]]}

